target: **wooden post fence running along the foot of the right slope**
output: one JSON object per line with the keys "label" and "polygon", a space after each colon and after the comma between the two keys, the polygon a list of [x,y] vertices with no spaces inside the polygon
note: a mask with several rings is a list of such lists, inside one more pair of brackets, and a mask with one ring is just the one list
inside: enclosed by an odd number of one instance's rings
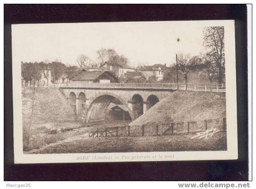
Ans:
{"label": "wooden post fence running along the foot of the right slope", "polygon": [[158,136],[197,133],[216,128],[226,131],[226,118],[207,119],[203,121],[172,122],[163,124],[148,124],[138,126],[115,126],[97,128],[89,133],[89,137],[118,137],[118,136]]}

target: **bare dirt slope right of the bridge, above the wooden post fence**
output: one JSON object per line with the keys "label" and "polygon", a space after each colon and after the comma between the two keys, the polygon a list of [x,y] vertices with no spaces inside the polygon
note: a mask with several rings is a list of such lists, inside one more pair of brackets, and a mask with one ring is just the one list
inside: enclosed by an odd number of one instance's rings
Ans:
{"label": "bare dirt slope right of the bridge, above the wooden post fence", "polygon": [[223,118],[225,102],[225,93],[175,91],[130,125]]}

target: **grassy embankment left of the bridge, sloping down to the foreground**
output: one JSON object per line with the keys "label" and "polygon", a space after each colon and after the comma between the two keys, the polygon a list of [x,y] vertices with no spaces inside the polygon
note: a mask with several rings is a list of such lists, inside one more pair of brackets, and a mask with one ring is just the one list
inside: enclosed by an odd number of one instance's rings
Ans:
{"label": "grassy embankment left of the bridge, sloping down to the foreground", "polygon": [[63,140],[69,133],[59,133],[59,128],[78,124],[59,89],[36,88],[35,93],[33,89],[23,89],[22,115],[24,151]]}

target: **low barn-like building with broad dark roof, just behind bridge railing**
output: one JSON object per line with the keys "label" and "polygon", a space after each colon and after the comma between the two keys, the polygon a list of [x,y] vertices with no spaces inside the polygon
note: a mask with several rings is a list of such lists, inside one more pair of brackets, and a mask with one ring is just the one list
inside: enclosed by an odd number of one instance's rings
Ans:
{"label": "low barn-like building with broad dark roof, just behind bridge railing", "polygon": [[70,83],[118,83],[119,80],[109,71],[81,70],[71,79]]}

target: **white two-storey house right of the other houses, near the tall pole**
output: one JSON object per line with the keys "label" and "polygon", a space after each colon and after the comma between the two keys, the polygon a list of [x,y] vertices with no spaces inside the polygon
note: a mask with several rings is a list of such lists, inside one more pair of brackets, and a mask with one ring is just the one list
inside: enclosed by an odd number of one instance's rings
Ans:
{"label": "white two-storey house right of the other houses, near the tall pole", "polygon": [[139,68],[138,71],[142,72],[149,82],[159,82],[164,79],[164,70],[161,69],[161,66],[147,65]]}

